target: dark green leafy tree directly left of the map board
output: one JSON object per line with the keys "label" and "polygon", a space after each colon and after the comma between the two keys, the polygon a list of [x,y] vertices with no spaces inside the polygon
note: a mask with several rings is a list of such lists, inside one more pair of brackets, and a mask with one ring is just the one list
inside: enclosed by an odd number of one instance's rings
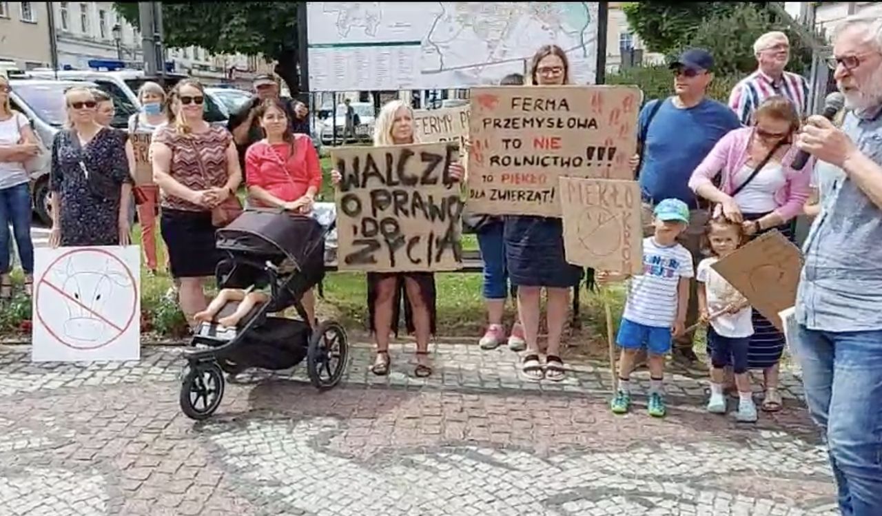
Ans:
{"label": "dark green leafy tree directly left of the map board", "polygon": [[[162,2],[168,48],[201,47],[213,54],[264,56],[298,93],[297,7],[301,2]],[[116,2],[117,12],[140,27],[137,2]]]}

